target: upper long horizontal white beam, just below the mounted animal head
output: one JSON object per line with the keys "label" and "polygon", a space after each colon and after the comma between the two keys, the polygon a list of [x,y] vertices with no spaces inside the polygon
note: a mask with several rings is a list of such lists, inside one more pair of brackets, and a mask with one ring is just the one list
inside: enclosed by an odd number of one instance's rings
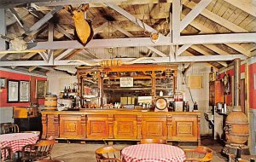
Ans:
{"label": "upper long horizontal white beam, just below the mounted animal head", "polygon": [[[31,49],[84,49],[84,48],[109,48],[109,47],[140,47],[140,46],[160,46],[174,44],[201,44],[201,43],[252,43],[255,41],[256,33],[229,33],[229,34],[209,34],[181,36],[179,43],[170,43],[170,38],[160,38],[153,43],[151,38],[110,38],[92,39],[86,47],[78,41],[54,41],[28,43]],[[7,52],[7,51],[5,51]]]}

